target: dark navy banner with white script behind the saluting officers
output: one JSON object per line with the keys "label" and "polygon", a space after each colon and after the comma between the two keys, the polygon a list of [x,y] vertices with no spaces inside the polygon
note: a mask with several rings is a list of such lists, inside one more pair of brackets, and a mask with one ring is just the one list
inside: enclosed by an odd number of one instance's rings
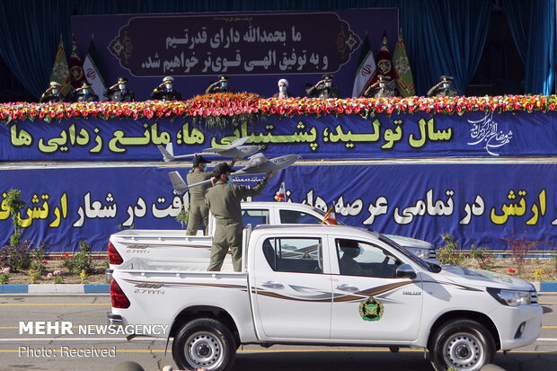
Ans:
{"label": "dark navy banner with white script behind the saluting officers", "polygon": [[128,77],[140,101],[165,75],[184,99],[205,93],[217,75],[228,75],[235,92],[261,96],[278,93],[286,78],[288,91],[301,96],[306,83],[334,74],[341,96],[351,96],[366,33],[377,52],[385,31],[393,51],[398,28],[396,8],[72,18],[82,56],[94,35],[105,81]]}

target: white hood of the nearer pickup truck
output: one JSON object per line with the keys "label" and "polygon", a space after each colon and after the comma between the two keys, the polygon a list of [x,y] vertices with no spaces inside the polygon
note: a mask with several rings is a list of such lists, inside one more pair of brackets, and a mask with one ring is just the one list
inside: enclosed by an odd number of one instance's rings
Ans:
{"label": "white hood of the nearer pickup truck", "polygon": [[535,290],[534,285],[524,279],[515,278],[506,274],[491,272],[489,270],[471,269],[443,265],[442,270],[435,275],[455,284],[473,287],[496,287],[510,290]]}

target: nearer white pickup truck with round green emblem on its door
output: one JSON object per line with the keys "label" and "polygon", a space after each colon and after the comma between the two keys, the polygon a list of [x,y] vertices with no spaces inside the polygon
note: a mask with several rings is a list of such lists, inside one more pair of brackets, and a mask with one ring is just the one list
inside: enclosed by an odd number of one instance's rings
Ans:
{"label": "nearer white pickup truck with round green emblem on its door", "polygon": [[180,368],[229,369],[241,344],[428,349],[436,370],[479,370],[538,337],[532,284],[426,264],[381,234],[344,225],[244,230],[243,271],[133,258],[115,269],[109,322],[167,326]]}

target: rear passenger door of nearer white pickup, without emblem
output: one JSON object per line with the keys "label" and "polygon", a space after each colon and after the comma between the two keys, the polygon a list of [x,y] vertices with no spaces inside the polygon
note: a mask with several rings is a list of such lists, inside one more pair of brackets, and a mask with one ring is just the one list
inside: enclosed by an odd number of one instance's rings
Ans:
{"label": "rear passenger door of nearer white pickup, without emblem", "polygon": [[320,237],[262,237],[254,252],[252,304],[261,340],[328,339],[332,286]]}

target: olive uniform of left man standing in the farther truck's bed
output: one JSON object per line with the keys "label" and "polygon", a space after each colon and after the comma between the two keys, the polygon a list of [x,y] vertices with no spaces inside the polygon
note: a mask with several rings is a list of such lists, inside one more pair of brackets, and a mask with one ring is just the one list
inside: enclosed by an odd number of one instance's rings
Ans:
{"label": "olive uniform of left man standing in the farther truck's bed", "polygon": [[[191,169],[188,172],[188,184],[199,183],[199,181],[207,181],[211,178],[212,173],[204,172],[199,168]],[[208,235],[208,206],[205,202],[205,192],[211,185],[202,185],[190,189],[190,214],[188,216],[187,235],[195,235],[198,233],[199,224],[203,223],[203,234]]]}

